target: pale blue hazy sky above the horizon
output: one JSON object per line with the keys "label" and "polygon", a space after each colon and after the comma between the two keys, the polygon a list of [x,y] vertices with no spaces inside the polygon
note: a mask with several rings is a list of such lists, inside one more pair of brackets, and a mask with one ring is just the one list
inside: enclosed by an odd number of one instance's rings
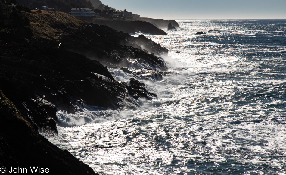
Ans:
{"label": "pale blue hazy sky above the horizon", "polygon": [[101,0],[157,19],[286,19],[286,0]]}

